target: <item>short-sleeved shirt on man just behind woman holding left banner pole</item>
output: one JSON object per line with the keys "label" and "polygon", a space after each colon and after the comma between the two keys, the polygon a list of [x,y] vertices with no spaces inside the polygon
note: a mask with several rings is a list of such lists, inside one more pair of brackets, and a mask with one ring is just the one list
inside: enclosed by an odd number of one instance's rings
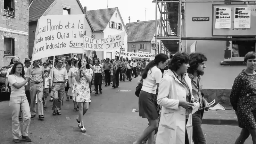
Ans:
{"label": "short-sleeved shirt on man just behind woman holding left banner pole", "polygon": [[[32,71],[31,71],[32,67]],[[34,67],[33,65],[27,68],[26,77],[31,75],[31,83],[43,82],[44,70],[42,66]]]}

